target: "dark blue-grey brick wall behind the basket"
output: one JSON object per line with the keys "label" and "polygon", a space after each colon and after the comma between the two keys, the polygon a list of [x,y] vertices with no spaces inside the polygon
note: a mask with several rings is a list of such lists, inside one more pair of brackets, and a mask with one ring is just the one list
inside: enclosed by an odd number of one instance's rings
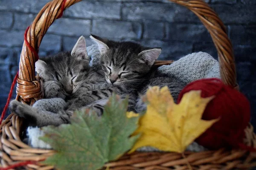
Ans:
{"label": "dark blue-grey brick wall behind the basket", "polygon": [[[256,1],[206,0],[219,14],[233,42],[237,78],[250,99],[256,125]],[[23,33],[48,0],[1,0],[0,3],[0,111],[17,71]],[[90,33],[113,40],[135,40],[163,48],[160,59],[179,59],[205,51],[217,57],[215,47],[200,20],[184,7],[168,0],[84,0],[64,12],[49,28],[40,56],[70,50],[78,37]]]}

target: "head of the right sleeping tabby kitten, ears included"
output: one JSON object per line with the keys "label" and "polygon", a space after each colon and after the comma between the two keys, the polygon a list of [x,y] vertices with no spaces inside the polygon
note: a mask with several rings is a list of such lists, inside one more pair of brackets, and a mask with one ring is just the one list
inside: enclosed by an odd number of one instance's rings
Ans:
{"label": "head of the right sleeping tabby kitten, ears included", "polygon": [[109,84],[134,86],[151,70],[161,53],[161,48],[145,48],[135,42],[114,42],[95,35],[94,40],[101,53],[101,63],[96,71]]}

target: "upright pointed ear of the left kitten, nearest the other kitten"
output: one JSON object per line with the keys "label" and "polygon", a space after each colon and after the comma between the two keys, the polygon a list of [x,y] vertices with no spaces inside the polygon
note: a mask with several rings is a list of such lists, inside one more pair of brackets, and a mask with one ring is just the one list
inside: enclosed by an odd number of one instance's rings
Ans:
{"label": "upright pointed ear of the left kitten, nearest the other kitten", "polygon": [[77,40],[76,45],[71,51],[71,56],[77,57],[78,59],[89,59],[87,55],[84,36],[79,37],[79,39]]}

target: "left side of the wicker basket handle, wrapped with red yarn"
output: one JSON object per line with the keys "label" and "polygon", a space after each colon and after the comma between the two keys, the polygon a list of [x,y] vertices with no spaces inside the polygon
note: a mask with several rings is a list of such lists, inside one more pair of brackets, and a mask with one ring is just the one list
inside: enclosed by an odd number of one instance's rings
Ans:
{"label": "left side of the wicker basket handle, wrapped with red yarn", "polygon": [[[81,0],[66,0],[64,9],[78,3]],[[47,3],[35,17],[30,25],[26,37],[30,46],[38,51],[41,41],[52,23],[58,19],[61,14],[61,5],[63,0],[52,0]],[[19,76],[17,79],[17,97],[20,102],[33,105],[36,100],[43,97],[41,90],[41,82],[35,77],[35,62],[37,56],[33,53],[33,49],[23,42],[20,54]]]}

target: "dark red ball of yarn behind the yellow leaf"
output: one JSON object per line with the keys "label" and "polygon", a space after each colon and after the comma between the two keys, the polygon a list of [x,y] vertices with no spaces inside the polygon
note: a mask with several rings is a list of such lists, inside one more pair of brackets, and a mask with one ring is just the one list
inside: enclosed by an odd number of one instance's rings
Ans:
{"label": "dark red ball of yarn behind the yellow leaf", "polygon": [[215,96],[205,108],[202,119],[220,118],[195,141],[213,150],[222,147],[241,148],[241,145],[243,147],[244,129],[250,121],[248,99],[236,89],[224,85],[220,79],[210,78],[186,85],[180,92],[177,102],[180,102],[183,94],[192,90],[201,90],[201,97]]}

